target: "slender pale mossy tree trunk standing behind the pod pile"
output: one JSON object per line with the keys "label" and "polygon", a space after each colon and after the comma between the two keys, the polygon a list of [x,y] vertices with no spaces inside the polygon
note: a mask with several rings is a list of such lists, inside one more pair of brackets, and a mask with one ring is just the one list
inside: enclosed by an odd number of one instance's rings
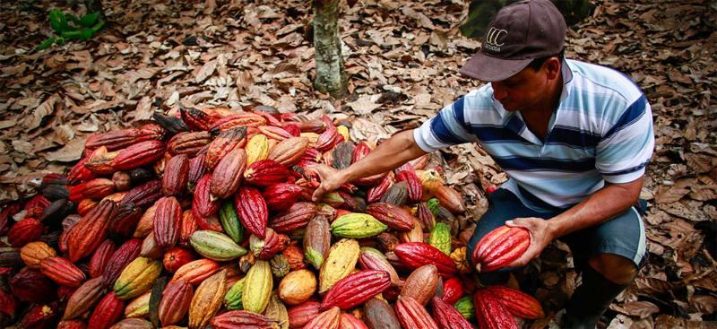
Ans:
{"label": "slender pale mossy tree trunk standing behind the pod pile", "polygon": [[314,0],[316,91],[338,98],[346,93],[346,73],[339,39],[339,0]]}

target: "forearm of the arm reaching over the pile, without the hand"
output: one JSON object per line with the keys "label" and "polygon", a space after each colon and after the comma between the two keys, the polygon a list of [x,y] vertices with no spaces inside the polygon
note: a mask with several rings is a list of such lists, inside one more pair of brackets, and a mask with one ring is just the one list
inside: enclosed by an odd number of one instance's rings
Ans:
{"label": "forearm of the arm reaching over the pile, without the hand", "polygon": [[413,140],[413,131],[407,130],[394,134],[390,139],[381,143],[376,150],[367,154],[347,169],[342,169],[340,175],[346,181],[360,177],[369,177],[382,172],[396,169],[407,161],[414,160],[426,154]]}

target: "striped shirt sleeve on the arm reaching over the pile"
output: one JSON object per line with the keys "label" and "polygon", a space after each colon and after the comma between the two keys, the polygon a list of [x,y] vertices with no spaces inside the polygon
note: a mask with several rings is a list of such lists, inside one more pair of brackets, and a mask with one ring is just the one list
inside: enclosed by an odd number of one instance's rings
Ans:
{"label": "striped shirt sleeve on the arm reaching over the pile", "polygon": [[451,145],[475,142],[477,138],[471,134],[471,126],[464,119],[464,110],[464,98],[461,98],[414,129],[413,139],[419,148],[424,152],[434,152]]}

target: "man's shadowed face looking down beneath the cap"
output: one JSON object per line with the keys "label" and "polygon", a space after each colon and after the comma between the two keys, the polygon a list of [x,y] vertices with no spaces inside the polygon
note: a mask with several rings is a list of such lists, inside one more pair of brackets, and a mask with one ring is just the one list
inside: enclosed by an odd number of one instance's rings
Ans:
{"label": "man's shadowed face looking down beneath the cap", "polygon": [[[557,58],[550,58],[549,61],[553,59],[556,62],[553,65],[557,64]],[[541,105],[540,101],[549,99],[549,82],[556,77],[557,69],[550,68],[549,61],[538,71],[526,67],[503,81],[490,82],[493,97],[508,111],[522,111]]]}

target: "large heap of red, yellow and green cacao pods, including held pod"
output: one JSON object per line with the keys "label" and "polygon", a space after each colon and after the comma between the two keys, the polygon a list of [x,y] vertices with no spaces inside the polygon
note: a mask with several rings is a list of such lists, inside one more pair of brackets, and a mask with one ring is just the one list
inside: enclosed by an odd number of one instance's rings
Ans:
{"label": "large heap of red, yellow and green cacao pods, including held pod", "polygon": [[[476,289],[470,231],[456,238],[462,196],[428,156],[311,202],[308,168],[371,151],[349,133],[259,107],[182,108],[91,135],[66,176],[0,213],[0,325],[512,328],[543,316],[519,290]],[[502,229],[476,248],[483,270],[527,247]]]}

